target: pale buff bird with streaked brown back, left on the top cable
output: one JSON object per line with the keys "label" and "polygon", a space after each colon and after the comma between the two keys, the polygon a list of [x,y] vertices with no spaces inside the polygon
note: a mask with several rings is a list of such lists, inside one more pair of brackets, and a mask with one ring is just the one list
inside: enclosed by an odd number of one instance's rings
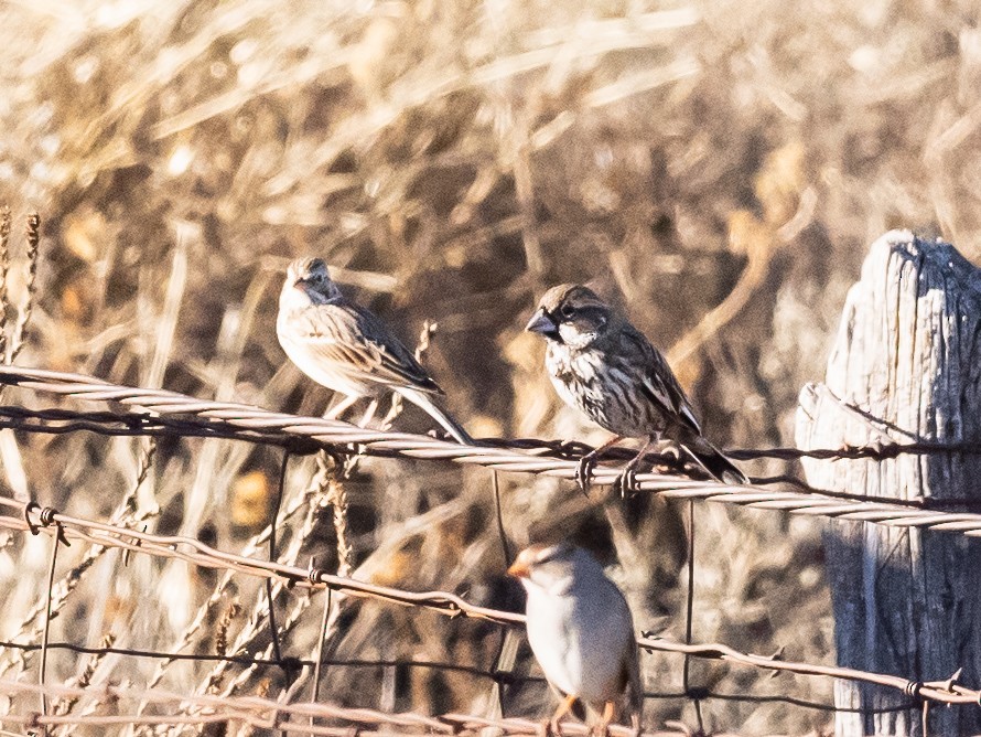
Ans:
{"label": "pale buff bird with streaked brown back, left on the top cable", "polygon": [[279,344],[297,367],[345,399],[336,417],[360,397],[392,391],[420,406],[462,445],[473,440],[433,397],[443,391],[412,352],[367,309],[348,300],[322,258],[290,264],[276,320]]}

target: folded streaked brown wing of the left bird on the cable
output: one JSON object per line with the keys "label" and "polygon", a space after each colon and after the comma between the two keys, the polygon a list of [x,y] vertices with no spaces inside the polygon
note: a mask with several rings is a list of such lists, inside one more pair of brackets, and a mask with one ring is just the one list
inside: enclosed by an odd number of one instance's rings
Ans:
{"label": "folded streaked brown wing of the left bird on the cable", "polygon": [[357,305],[317,305],[297,320],[293,339],[314,357],[344,365],[362,378],[443,391],[388,327]]}

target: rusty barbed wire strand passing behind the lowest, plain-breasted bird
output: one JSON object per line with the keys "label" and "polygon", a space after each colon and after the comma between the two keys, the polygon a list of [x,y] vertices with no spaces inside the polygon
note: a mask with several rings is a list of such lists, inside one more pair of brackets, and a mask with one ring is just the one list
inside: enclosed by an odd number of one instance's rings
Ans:
{"label": "rusty barbed wire strand passing behind the lowest, plain-breasted bird", "polygon": [[[260,577],[280,578],[289,585],[305,588],[326,587],[343,591],[348,596],[376,599],[401,606],[419,607],[449,617],[481,619],[507,627],[524,627],[525,616],[471,604],[449,591],[408,591],[387,586],[378,586],[352,578],[335,576],[325,570],[310,567],[300,568],[281,563],[260,560],[234,553],[218,551],[198,540],[180,535],[157,535],[127,530],[101,522],[83,520],[61,514],[51,508],[41,509],[34,503],[0,498],[0,506],[12,509],[18,516],[0,515],[0,527],[21,532],[45,532],[55,544],[78,538],[104,546],[116,546],[132,552],[165,558],[180,558],[207,568],[233,569],[238,573]],[[187,548],[187,549],[181,549]],[[908,698],[940,704],[981,704],[981,691],[970,690],[957,683],[956,679],[944,682],[917,682],[883,673],[873,673],[833,665],[818,665],[779,660],[775,656],[744,653],[722,643],[686,644],[644,633],[638,644],[650,652],[667,652],[694,658],[726,661],[740,665],[775,672],[789,672],[799,675],[843,679],[848,681],[877,684],[902,692]],[[914,704],[905,707],[910,708]]]}

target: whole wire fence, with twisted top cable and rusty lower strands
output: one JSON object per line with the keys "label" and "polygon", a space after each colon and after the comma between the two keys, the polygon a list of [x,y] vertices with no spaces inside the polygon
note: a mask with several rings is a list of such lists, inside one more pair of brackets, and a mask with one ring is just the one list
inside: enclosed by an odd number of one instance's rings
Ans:
{"label": "whole wire fence, with twisted top cable and rusty lower strands", "polygon": [[[283,473],[285,476],[289,458],[293,455],[306,455],[327,451],[338,459],[360,456],[378,456],[386,458],[413,458],[434,462],[455,462],[477,466],[495,472],[538,473],[573,479],[579,466],[578,458],[589,447],[579,444],[546,442],[539,440],[503,440],[483,439],[474,446],[460,446],[429,436],[405,432],[369,430],[339,420],[327,420],[303,417],[283,413],[274,413],[258,407],[237,403],[212,402],[181,395],[174,392],[145,389],[139,387],[109,384],[100,380],[79,375],[56,373],[41,370],[0,367],[0,384],[14,385],[23,389],[45,394],[57,394],[85,402],[111,403],[111,410],[76,410],[58,408],[28,409],[19,406],[0,406],[0,428],[10,428],[20,432],[60,435],[66,432],[89,431],[107,436],[148,437],[151,444],[161,438],[224,438],[283,449]],[[150,445],[143,458],[141,476],[152,461],[155,446]],[[901,453],[936,453],[958,452],[979,453],[981,447],[973,445],[938,446],[936,444],[891,445],[862,448],[843,448],[838,450],[800,451],[794,448],[768,450],[744,449],[733,450],[731,456],[737,459],[774,457],[794,459],[802,456],[813,458],[894,458]],[[616,451],[605,458],[619,458]],[[659,462],[665,459],[651,457]],[[852,669],[805,662],[786,661],[778,655],[761,655],[742,652],[724,643],[698,643],[692,641],[691,617],[694,606],[693,560],[696,538],[694,503],[700,500],[722,502],[789,512],[794,514],[823,516],[847,521],[873,522],[895,527],[918,527],[924,530],[946,531],[967,536],[981,535],[981,514],[947,509],[930,508],[929,500],[906,502],[873,501],[861,494],[843,492],[822,492],[809,489],[796,482],[794,490],[773,489],[776,482],[787,479],[755,479],[752,485],[729,485],[715,481],[697,478],[698,471],[676,469],[670,473],[640,473],[636,478],[639,492],[657,493],[667,498],[688,500],[688,545],[690,565],[688,567],[687,587],[687,627],[686,641],[672,641],[642,633],[638,643],[644,651],[675,653],[681,661],[683,670],[683,687],[679,692],[650,692],[649,699],[688,698],[696,704],[707,699],[733,699],[744,702],[776,701],[800,707],[826,712],[837,709],[833,705],[801,699],[791,693],[753,694],[720,693],[712,688],[693,686],[689,679],[689,664],[692,659],[725,661],[739,666],[759,669],[772,673],[789,672],[819,679],[841,679],[859,683],[877,684],[892,688],[896,693],[895,705],[882,711],[906,711],[919,708],[927,718],[928,708],[933,705],[978,704],[981,703],[981,691],[968,688],[957,682],[956,674],[944,682],[916,682],[904,677],[856,671]],[[600,466],[593,477],[597,487],[611,485],[616,481],[617,470]],[[139,481],[138,481],[139,485]],[[786,485],[786,484],[785,484]],[[496,484],[495,484],[496,488]],[[949,500],[945,503],[949,504]],[[966,504],[968,506],[969,504]],[[123,504],[126,506],[126,504]],[[302,505],[294,504],[281,511],[281,519],[302,516]],[[313,562],[302,567],[277,562],[276,531],[278,520],[263,533],[252,540],[245,549],[238,553],[218,549],[195,537],[185,535],[159,535],[141,528],[141,520],[131,514],[115,515],[108,522],[79,519],[63,514],[57,510],[40,506],[32,499],[0,498],[0,528],[13,534],[44,534],[50,538],[50,565],[44,591],[43,605],[26,618],[37,618],[41,627],[21,640],[0,641],[0,653],[17,651],[25,656],[37,652],[40,666],[39,683],[23,683],[21,680],[3,677],[0,671],[0,691],[8,697],[30,695],[36,697],[36,709],[30,713],[6,714],[0,717],[4,725],[18,725],[33,731],[47,733],[50,729],[68,726],[108,726],[130,725],[133,728],[157,729],[193,727],[198,730],[206,725],[235,724],[242,728],[273,729],[280,733],[303,733],[316,735],[352,734],[386,734],[392,731],[432,731],[436,734],[477,731],[494,728],[498,734],[537,734],[543,729],[541,723],[527,719],[494,718],[478,715],[448,713],[424,715],[418,713],[387,713],[378,709],[345,708],[341,705],[326,703],[319,693],[324,669],[367,669],[367,667],[401,667],[428,669],[455,672],[487,682],[495,688],[502,706],[506,712],[503,690],[505,686],[524,681],[533,681],[531,676],[516,675],[507,669],[473,667],[452,662],[431,661],[392,661],[392,660],[352,660],[333,658],[322,649],[327,631],[342,627],[342,608],[338,602],[354,599],[371,599],[386,605],[409,607],[417,610],[429,610],[449,618],[466,618],[492,623],[503,629],[520,629],[524,617],[519,613],[476,606],[465,598],[449,591],[410,591],[395,587],[380,586],[355,580],[347,575],[337,575],[319,568]],[[304,524],[309,524],[309,515]],[[503,532],[503,531],[502,531]],[[259,655],[242,655],[241,638],[235,643],[225,642],[225,633],[219,622],[219,640],[217,653],[195,653],[179,649],[173,652],[140,650],[116,647],[112,642],[103,642],[98,647],[79,645],[73,642],[54,642],[50,639],[50,623],[57,615],[68,591],[78,578],[84,575],[85,562],[69,572],[61,580],[56,580],[56,566],[60,549],[80,541],[90,546],[93,552],[118,548],[123,552],[123,563],[134,555],[149,555],[160,558],[179,559],[201,569],[219,572],[223,584],[217,591],[228,585],[233,576],[247,576],[260,580],[266,586],[267,596],[260,597],[250,613],[252,630],[268,628],[270,645]],[[272,555],[260,557],[261,546],[268,545]],[[344,542],[338,540],[338,546]],[[506,545],[506,542],[505,542]],[[96,555],[98,553],[95,553]],[[90,553],[86,560],[91,559]],[[349,568],[341,556],[341,574]],[[270,606],[274,596],[284,587],[305,591],[308,596],[285,612],[284,619],[277,621],[276,607]],[[295,627],[304,611],[311,606],[310,595],[325,591],[324,608],[321,620],[321,632],[314,653],[308,658],[297,658],[283,652],[280,637]],[[333,597],[333,601],[332,601]],[[216,606],[217,599],[211,602]],[[196,627],[201,626],[204,615],[197,618]],[[227,629],[227,622],[224,622]],[[190,632],[185,644],[190,644]],[[54,684],[47,682],[46,664],[54,651],[71,651],[78,655],[89,655],[93,660],[114,655],[119,658],[138,658],[160,663],[157,676],[145,686],[132,684],[86,683],[84,673],[75,684]],[[179,661],[214,663],[214,688],[204,693],[176,694],[159,686],[166,664]],[[284,696],[271,699],[260,696],[240,696],[233,693],[228,685],[224,692],[219,687],[231,666],[244,669],[234,683],[241,683],[244,674],[251,674],[258,669],[276,669],[288,674],[293,684]],[[309,684],[309,686],[306,685]],[[305,691],[304,691],[305,688]],[[112,713],[96,714],[106,704],[116,705]],[[79,706],[80,705],[80,706]],[[101,705],[101,706],[100,706]],[[159,707],[166,713],[149,713],[148,706]],[[103,708],[101,711],[105,712]],[[679,734],[681,725],[669,733],[645,734]],[[586,734],[584,725],[567,722],[562,725],[562,734]],[[625,727],[611,727],[612,734],[629,734]],[[149,734],[149,733],[148,733]]]}

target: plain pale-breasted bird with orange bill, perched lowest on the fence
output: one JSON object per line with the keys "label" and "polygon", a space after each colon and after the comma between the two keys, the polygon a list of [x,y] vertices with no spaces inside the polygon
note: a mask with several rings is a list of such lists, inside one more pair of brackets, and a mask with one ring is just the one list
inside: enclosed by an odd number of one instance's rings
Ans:
{"label": "plain pale-breasted bird with orange bill, perched lowest on the fence", "polygon": [[569,542],[531,545],[507,573],[528,594],[528,643],[561,696],[552,730],[558,733],[559,722],[581,702],[601,715],[605,733],[629,690],[626,706],[639,731],[644,688],[634,620],[600,562]]}

